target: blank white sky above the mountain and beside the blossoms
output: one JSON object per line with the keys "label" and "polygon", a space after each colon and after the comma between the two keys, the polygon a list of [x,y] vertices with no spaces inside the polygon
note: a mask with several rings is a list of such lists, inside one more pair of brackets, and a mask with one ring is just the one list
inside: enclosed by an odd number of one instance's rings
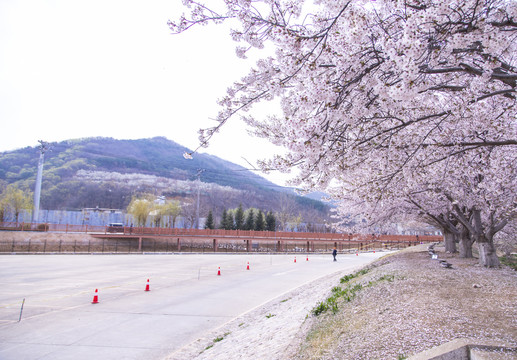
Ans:
{"label": "blank white sky above the mountain and beside the blossoms", "polygon": [[[181,0],[0,0],[0,151],[91,136],[197,148],[253,63],[222,27],[171,35],[167,20],[184,11]],[[278,149],[235,117],[203,151],[249,167],[243,158]]]}

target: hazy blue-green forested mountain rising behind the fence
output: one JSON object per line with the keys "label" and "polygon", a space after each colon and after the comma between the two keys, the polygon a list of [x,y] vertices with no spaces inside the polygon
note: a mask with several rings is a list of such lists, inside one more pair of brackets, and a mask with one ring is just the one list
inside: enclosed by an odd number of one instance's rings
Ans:
{"label": "hazy blue-green forested mountain rising behind the fence", "polygon": [[[185,159],[185,152],[191,150],[164,137],[97,137],[55,143],[45,153],[41,208],[124,209],[138,193],[186,201],[200,191],[202,205],[216,211],[242,203],[245,208],[279,211],[288,206],[304,217],[326,216],[328,208],[320,201],[296,196],[216,156],[195,154]],[[38,158],[36,147],[0,153],[0,182],[33,191]],[[198,172],[201,183],[196,181]]]}

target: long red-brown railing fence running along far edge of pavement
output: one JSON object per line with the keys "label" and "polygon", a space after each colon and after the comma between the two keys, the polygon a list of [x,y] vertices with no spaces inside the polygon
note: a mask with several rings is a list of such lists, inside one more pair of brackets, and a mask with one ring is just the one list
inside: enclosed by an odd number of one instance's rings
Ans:
{"label": "long red-brown railing fence running along far edge of pavement", "polygon": [[[3,242],[0,252],[340,252],[369,251],[439,242],[436,235],[380,235],[245,230],[200,230],[89,226],[68,224],[0,223],[0,230],[84,233],[92,240],[31,244]],[[102,243],[101,243],[102,242]]]}

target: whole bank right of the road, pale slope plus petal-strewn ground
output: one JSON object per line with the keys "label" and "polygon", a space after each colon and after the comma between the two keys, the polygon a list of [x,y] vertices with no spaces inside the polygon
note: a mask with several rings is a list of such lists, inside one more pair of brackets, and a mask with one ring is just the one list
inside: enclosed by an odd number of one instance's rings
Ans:
{"label": "whole bank right of the road, pale slope plus petal-strewn ground", "polygon": [[431,260],[426,246],[409,248],[352,279],[362,288],[350,302],[338,298],[335,314],[312,310],[346,287],[346,274],[260,306],[167,359],[405,359],[457,338],[516,347],[517,273],[435,249],[452,268]]}

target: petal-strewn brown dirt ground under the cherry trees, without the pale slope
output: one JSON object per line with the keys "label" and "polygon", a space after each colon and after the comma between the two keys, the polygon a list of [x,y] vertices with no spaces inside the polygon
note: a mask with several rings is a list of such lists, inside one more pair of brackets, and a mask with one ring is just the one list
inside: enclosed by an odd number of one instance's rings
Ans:
{"label": "petal-strewn brown dirt ground under the cherry trees, without the pale slope", "polygon": [[286,358],[404,359],[457,338],[517,346],[517,273],[436,250],[452,268],[422,246],[377,261],[354,279],[355,299],[302,326]]}

